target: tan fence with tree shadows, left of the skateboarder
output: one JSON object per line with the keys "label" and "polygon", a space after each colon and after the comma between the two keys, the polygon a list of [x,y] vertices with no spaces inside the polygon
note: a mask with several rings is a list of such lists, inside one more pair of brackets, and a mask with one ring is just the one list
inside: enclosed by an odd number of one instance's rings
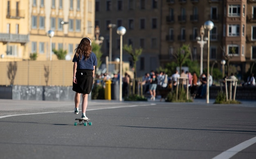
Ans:
{"label": "tan fence with tree shadows, left of the skateboarder", "polygon": [[73,63],[66,60],[0,62],[0,85],[71,86]]}

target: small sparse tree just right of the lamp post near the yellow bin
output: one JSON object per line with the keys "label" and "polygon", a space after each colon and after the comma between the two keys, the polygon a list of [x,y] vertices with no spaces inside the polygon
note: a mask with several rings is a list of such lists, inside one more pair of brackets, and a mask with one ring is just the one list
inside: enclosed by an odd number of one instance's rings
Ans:
{"label": "small sparse tree just right of the lamp post near the yellow bin", "polygon": [[134,68],[134,78],[137,77],[137,74],[136,74],[136,63],[137,61],[139,60],[139,56],[141,55],[142,53],[142,49],[139,48],[139,49],[135,49],[133,50],[132,49],[132,45],[124,45],[123,49],[130,55],[132,56],[132,65],[133,65],[133,68]]}

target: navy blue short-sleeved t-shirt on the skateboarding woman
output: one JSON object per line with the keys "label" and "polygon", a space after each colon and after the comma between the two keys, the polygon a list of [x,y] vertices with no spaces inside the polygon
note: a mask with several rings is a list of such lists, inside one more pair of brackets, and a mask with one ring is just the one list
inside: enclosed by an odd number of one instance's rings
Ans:
{"label": "navy blue short-sleeved t-shirt on the skateboarding woman", "polygon": [[72,62],[77,62],[77,68],[76,69],[91,69],[94,70],[93,66],[97,66],[97,57],[92,52],[90,55],[90,58],[85,60],[85,57],[82,55],[81,60],[79,60],[80,57],[76,58],[76,54],[74,55],[74,58]]}

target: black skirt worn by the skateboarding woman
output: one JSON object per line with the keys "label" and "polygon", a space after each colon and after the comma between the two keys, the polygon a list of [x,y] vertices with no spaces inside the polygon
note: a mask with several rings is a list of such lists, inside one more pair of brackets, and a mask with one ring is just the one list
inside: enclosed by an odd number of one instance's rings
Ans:
{"label": "black skirt worn by the skateboarding woman", "polygon": [[76,71],[76,82],[73,82],[73,91],[77,93],[90,94],[93,84],[92,70],[78,69]]}

